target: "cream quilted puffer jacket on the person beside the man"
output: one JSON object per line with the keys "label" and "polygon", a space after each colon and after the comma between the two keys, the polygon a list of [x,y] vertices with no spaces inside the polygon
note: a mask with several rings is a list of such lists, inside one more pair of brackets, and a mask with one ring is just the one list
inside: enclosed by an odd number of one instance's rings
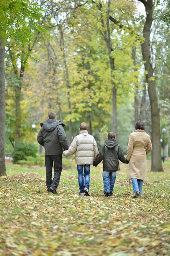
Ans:
{"label": "cream quilted puffer jacket on the person beside the man", "polygon": [[93,164],[98,153],[98,146],[95,138],[88,134],[88,131],[80,131],[69,146],[68,150],[63,151],[65,157],[75,153],[75,163],[78,165]]}

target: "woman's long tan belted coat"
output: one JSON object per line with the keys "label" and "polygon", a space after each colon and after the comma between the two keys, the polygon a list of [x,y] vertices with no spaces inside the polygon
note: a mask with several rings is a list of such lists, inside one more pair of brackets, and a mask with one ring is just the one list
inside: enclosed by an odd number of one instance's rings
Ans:
{"label": "woman's long tan belted coat", "polygon": [[135,130],[130,134],[127,147],[127,160],[129,162],[129,179],[146,180],[147,157],[152,150],[150,136],[144,130]]}

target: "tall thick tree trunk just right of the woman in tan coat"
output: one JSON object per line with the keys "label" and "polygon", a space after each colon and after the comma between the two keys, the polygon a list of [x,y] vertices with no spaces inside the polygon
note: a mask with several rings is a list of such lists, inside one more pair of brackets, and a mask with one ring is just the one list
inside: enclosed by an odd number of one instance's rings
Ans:
{"label": "tall thick tree trunk just right of the woman in tan coat", "polygon": [[[141,1],[140,1],[141,2]],[[143,1],[142,1],[143,2]],[[160,131],[160,114],[158,108],[158,96],[156,93],[156,82],[153,76],[153,67],[150,61],[150,28],[153,21],[153,2],[152,0],[144,1],[146,10],[146,22],[143,30],[144,43],[141,44],[142,56],[144,60],[144,67],[146,80],[148,83],[148,93],[151,106],[151,120],[152,120],[152,166],[151,171],[163,172],[161,163],[161,131]]]}

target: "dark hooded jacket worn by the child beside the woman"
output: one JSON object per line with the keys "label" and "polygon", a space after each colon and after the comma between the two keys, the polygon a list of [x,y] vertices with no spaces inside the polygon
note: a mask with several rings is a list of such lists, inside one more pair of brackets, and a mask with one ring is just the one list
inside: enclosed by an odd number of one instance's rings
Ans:
{"label": "dark hooded jacket worn by the child beside the woman", "polygon": [[122,163],[129,163],[129,160],[124,157],[121,146],[116,140],[105,141],[93,165],[97,166],[102,160],[103,171],[107,172],[116,172],[118,170],[118,160]]}

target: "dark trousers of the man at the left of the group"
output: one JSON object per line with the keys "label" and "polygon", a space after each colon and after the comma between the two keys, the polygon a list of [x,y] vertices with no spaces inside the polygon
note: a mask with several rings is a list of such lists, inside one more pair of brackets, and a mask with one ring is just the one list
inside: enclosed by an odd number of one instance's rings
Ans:
{"label": "dark trousers of the man at the left of the group", "polygon": [[[54,177],[52,180],[52,167],[54,162]],[[52,187],[54,190],[57,189],[60,176],[62,172],[62,155],[48,156],[45,155],[45,164],[46,164],[46,186],[49,189]]]}

